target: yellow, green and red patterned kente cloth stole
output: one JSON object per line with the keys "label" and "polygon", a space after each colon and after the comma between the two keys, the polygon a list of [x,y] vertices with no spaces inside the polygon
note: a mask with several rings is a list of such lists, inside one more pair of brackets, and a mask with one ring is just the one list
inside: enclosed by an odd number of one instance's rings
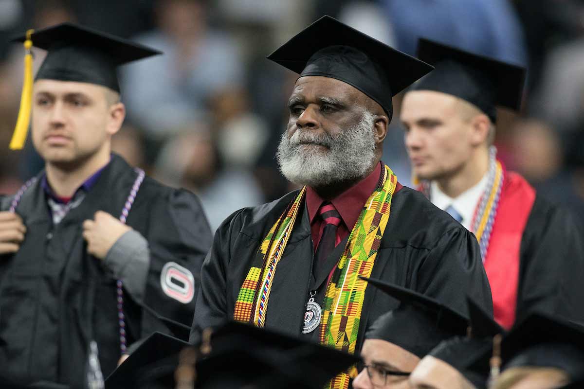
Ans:
{"label": "yellow, green and red patterned kente cloth stole", "polygon": [[[349,235],[345,250],[326,286],[320,326],[322,345],[348,353],[355,351],[367,286],[367,282],[359,276],[371,275],[381,237],[390,218],[391,199],[396,184],[397,178],[385,166],[380,185],[363,205],[357,223]],[[304,187],[263,240],[256,255],[255,266],[249,269],[239,289],[234,320],[251,322],[256,327],[263,327],[265,324],[276,267],[292,233],[298,210],[303,206],[305,195]],[[340,373],[326,388],[346,389],[349,387],[349,379],[348,372]]]}

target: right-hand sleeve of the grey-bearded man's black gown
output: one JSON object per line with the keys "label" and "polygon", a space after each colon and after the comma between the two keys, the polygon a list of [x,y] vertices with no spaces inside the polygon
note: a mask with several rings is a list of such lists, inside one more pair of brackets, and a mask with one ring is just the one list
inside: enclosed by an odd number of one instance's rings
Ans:
{"label": "right-hand sleeve of the grey-bearded man's black gown", "polygon": [[491,287],[482,265],[477,239],[464,227],[442,234],[420,265],[419,292],[468,314],[466,297],[493,314]]}

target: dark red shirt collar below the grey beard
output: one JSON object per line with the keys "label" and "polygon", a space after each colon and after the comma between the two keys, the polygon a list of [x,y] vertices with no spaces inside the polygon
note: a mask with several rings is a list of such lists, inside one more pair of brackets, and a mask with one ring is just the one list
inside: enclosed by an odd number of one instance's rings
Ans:
{"label": "dark red shirt collar below the grey beard", "polygon": [[[359,219],[359,215],[363,210],[363,205],[377,187],[380,174],[381,162],[377,164],[376,168],[373,169],[369,176],[363,178],[363,180],[330,200],[336,210],[339,211],[340,218],[343,219],[343,223],[345,223],[345,226],[347,226],[349,231],[352,230],[357,223],[357,219]],[[320,197],[317,191],[311,187],[307,188],[306,205],[311,224],[314,222],[318,209],[324,201],[325,199]]]}

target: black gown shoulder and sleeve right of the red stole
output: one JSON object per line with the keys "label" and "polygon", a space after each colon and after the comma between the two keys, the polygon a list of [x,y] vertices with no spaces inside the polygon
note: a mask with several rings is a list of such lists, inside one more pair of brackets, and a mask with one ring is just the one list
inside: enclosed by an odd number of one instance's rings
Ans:
{"label": "black gown shoulder and sleeve right of the red stole", "polygon": [[515,323],[534,310],[584,323],[583,280],[584,232],[571,213],[536,194],[520,246]]}

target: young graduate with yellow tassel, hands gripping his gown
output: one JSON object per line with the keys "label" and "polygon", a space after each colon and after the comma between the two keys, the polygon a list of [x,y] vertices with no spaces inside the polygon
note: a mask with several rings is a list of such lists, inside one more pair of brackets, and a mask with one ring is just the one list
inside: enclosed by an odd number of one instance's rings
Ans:
{"label": "young graduate with yellow tassel, hands gripping his gown", "polygon": [[68,23],[30,40],[48,50],[32,89],[46,169],[1,198],[0,370],[85,387],[92,341],[107,376],[127,347],[164,331],[142,306],[190,324],[211,232],[195,195],[110,153],[125,113],[116,66],[159,53]]}

